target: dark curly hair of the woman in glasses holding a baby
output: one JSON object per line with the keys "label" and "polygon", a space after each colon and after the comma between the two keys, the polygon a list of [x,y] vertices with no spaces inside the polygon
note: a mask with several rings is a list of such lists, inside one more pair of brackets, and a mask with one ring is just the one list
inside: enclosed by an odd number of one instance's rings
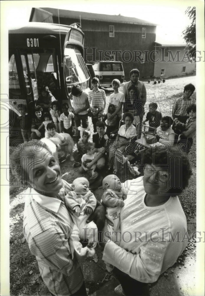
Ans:
{"label": "dark curly hair of the woman in glasses holding a baby", "polygon": [[181,194],[188,186],[188,180],[192,175],[191,164],[188,156],[180,151],[178,146],[148,148],[144,151],[142,164],[161,165],[168,169],[170,179],[168,181],[169,194],[176,196]]}

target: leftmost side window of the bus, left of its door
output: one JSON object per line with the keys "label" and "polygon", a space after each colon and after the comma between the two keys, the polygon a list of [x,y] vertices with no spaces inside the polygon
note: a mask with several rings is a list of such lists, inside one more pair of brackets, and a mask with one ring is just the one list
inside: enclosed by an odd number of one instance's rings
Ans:
{"label": "leftmost side window of the bus, left of its door", "polygon": [[[16,61],[14,54],[12,54],[9,60],[9,92],[14,96],[20,95],[19,77],[17,73]],[[10,98],[13,99],[13,98]]]}

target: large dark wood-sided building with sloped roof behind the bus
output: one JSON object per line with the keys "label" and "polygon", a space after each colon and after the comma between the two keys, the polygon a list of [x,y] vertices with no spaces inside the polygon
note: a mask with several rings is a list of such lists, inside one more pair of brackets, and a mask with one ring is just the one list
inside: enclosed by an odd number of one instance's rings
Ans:
{"label": "large dark wood-sided building with sloped roof behind the bus", "polygon": [[[129,72],[138,68],[140,77],[154,75],[154,62],[150,53],[155,49],[156,24],[134,17],[122,15],[104,15],[90,12],[70,11],[55,8],[33,8],[30,21],[38,20],[41,14],[43,21],[71,25],[79,23],[84,32],[84,60],[118,60],[123,62],[125,80]],[[45,16],[45,11],[48,13]],[[43,15],[44,12],[44,15]]]}

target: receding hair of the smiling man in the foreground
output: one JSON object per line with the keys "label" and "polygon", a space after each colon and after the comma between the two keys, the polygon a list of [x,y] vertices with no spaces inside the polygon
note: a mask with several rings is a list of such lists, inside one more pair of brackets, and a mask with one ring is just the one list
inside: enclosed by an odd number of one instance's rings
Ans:
{"label": "receding hair of the smiling man in the foreground", "polygon": [[25,170],[27,167],[27,161],[35,157],[35,153],[38,153],[42,149],[48,150],[51,155],[53,154],[45,143],[38,140],[32,140],[27,143],[20,144],[18,147],[14,147],[13,149],[14,151],[10,155],[12,175],[23,188],[27,188],[30,186],[29,175],[27,170]]}

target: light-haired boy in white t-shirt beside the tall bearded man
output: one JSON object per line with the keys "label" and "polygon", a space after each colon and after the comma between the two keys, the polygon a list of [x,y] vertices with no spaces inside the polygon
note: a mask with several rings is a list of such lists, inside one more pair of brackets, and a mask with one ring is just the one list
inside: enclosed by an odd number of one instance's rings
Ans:
{"label": "light-haired boy in white t-shirt beside the tall bearded man", "polygon": [[122,106],[125,101],[125,95],[119,91],[120,81],[118,79],[114,79],[112,81],[112,86],[114,93],[110,95],[109,105],[113,104],[116,108],[115,112],[112,114],[112,117],[118,115],[119,121],[122,119]]}

